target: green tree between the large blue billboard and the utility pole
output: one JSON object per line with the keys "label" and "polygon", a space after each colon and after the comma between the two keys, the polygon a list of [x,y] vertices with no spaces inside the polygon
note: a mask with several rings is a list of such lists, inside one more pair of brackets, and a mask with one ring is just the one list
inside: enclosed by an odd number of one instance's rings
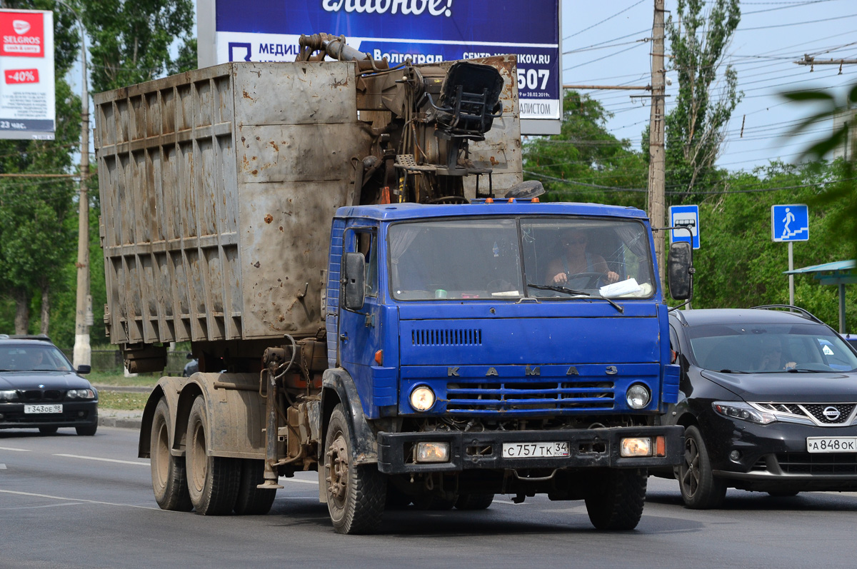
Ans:
{"label": "green tree between the large blue billboard and the utility pole", "polygon": [[548,200],[643,207],[647,166],[630,141],[608,133],[608,117],[598,101],[566,91],[560,134],[524,144],[524,177],[540,180]]}

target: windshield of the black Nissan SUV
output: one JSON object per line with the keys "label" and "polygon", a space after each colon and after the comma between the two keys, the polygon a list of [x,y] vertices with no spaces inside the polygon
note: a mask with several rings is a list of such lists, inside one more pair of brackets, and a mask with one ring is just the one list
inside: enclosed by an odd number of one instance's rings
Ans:
{"label": "windshield of the black Nissan SUV", "polygon": [[851,348],[818,324],[691,326],[691,350],[700,368],[760,373],[855,371]]}

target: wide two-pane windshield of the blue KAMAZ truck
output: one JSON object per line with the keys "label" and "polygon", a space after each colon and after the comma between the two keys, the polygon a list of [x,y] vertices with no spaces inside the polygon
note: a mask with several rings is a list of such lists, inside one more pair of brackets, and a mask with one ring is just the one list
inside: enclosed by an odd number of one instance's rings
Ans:
{"label": "wide two-pane windshield of the blue KAMAZ truck", "polygon": [[648,232],[626,219],[437,219],[392,225],[398,300],[588,296],[654,292]]}

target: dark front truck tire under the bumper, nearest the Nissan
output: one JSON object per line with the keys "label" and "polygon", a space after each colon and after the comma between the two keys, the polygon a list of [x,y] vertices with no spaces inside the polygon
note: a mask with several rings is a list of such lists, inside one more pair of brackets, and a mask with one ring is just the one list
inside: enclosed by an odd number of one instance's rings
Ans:
{"label": "dark front truck tire under the bumper, nearest the Nissan", "polygon": [[645,469],[609,469],[586,497],[586,513],[597,530],[633,530],[643,516]]}

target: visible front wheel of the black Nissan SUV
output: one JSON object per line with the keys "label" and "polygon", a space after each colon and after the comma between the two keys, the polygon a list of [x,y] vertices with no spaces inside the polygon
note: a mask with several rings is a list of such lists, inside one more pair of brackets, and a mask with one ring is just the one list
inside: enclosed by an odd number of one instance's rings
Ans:
{"label": "visible front wheel of the black Nissan SUV", "polygon": [[699,428],[685,429],[685,461],[679,466],[681,500],[692,510],[716,508],[726,497],[726,483],[711,471],[708,449]]}

